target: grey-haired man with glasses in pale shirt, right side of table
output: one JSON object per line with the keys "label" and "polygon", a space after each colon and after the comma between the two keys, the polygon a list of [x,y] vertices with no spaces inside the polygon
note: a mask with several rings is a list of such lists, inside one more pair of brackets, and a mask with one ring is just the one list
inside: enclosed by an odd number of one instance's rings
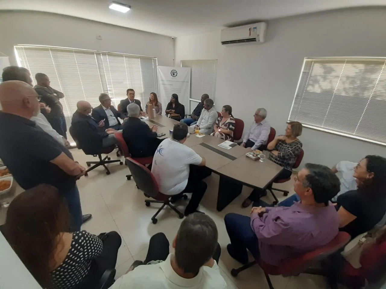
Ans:
{"label": "grey-haired man with glasses in pale shirt, right side of table", "polygon": [[267,111],[265,108],[256,109],[254,114],[254,123],[252,123],[249,131],[244,135],[241,146],[244,148],[252,148],[252,150],[264,150],[267,144],[271,126],[266,121]]}

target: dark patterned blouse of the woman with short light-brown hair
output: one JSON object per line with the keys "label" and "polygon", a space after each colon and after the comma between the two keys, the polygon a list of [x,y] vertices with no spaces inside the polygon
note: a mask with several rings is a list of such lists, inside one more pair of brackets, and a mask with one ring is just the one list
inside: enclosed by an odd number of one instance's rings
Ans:
{"label": "dark patterned blouse of the woman with short light-brown hair", "polygon": [[292,170],[295,164],[296,158],[301,151],[303,144],[299,139],[292,143],[286,143],[285,141],[278,141],[273,150],[278,151],[278,155],[275,156],[272,152],[269,154],[269,160],[277,163],[278,165]]}

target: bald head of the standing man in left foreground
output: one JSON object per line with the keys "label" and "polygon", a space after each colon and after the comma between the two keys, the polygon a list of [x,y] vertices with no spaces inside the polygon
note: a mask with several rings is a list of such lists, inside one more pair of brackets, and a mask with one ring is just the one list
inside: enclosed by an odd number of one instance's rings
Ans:
{"label": "bald head of the standing man in left foreground", "polygon": [[23,81],[10,80],[0,84],[0,103],[3,112],[28,119],[40,112],[35,89]]}

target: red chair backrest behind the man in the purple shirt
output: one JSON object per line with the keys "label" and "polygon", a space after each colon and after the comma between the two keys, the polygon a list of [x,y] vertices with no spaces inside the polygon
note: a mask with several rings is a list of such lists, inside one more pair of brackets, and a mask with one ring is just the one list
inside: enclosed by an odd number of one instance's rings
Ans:
{"label": "red chair backrest behind the man in the purple shirt", "polygon": [[279,274],[291,276],[303,272],[312,262],[323,259],[337,252],[337,250],[342,249],[349,242],[350,238],[347,232],[339,232],[328,244],[311,252],[301,254],[298,257],[286,259],[278,266]]}

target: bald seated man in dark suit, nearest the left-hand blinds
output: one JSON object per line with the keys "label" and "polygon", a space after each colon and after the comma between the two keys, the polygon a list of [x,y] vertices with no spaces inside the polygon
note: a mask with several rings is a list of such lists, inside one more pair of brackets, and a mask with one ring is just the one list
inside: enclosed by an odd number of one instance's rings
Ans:
{"label": "bald seated man in dark suit, nearest the left-hand blinds", "polygon": [[76,112],[71,119],[72,134],[77,139],[82,150],[90,153],[97,153],[102,148],[118,144],[113,128],[104,129],[100,124],[91,118],[91,104],[87,101],[78,101]]}

